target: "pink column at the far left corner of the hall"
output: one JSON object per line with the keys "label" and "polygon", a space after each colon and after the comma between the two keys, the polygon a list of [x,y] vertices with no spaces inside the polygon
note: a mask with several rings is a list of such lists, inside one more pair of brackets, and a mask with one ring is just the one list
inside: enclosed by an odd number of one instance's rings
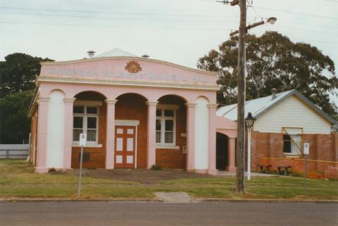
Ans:
{"label": "pink column at the far left corner of the hall", "polygon": [[46,168],[46,143],[47,143],[47,120],[48,120],[48,97],[39,97],[37,108],[37,164],[35,172],[48,172]]}

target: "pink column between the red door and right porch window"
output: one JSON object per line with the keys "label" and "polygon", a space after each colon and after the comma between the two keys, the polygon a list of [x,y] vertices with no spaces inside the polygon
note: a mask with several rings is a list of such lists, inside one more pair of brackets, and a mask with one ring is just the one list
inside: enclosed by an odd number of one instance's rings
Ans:
{"label": "pink column between the red door and right porch window", "polygon": [[148,153],[146,158],[146,168],[156,164],[156,105],[158,101],[146,101],[148,105]]}

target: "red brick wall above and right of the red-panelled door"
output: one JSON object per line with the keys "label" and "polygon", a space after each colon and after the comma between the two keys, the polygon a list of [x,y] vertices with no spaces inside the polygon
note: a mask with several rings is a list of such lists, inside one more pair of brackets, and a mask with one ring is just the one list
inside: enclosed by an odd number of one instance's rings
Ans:
{"label": "red brick wall above and right of the red-panelled door", "polygon": [[137,168],[146,168],[147,118],[146,99],[137,94],[124,94],[118,97],[115,105],[115,119],[139,120],[137,127]]}

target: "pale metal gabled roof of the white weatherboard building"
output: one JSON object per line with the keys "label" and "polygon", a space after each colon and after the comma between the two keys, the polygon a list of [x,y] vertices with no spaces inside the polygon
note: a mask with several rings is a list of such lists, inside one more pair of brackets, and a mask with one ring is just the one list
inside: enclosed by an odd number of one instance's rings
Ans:
{"label": "pale metal gabled roof of the white weatherboard building", "polygon": [[[253,99],[251,101],[246,101],[244,107],[244,115],[248,115],[248,113],[251,112],[254,118],[259,118],[261,115],[263,115],[263,113],[269,111],[271,108],[275,107],[278,103],[284,101],[285,99],[287,99],[289,96],[292,95],[301,99],[303,103],[306,103],[307,106],[309,106],[311,109],[313,109],[313,111],[315,111],[319,115],[322,115],[330,123],[332,124],[338,123],[337,120],[334,120],[330,115],[327,115],[327,113],[318,108],[318,106],[315,106],[314,103],[309,101],[305,96],[300,94],[295,89],[276,94],[275,99],[272,99],[272,95],[270,95],[258,99]],[[237,103],[218,108],[216,115],[228,118],[233,121],[237,121]]]}

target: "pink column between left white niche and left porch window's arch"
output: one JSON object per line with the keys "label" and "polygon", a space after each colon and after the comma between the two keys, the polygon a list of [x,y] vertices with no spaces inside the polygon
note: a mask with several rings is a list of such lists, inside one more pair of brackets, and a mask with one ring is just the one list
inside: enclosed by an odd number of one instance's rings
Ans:
{"label": "pink column between left white niche and left porch window's arch", "polygon": [[65,147],[63,152],[63,168],[72,168],[72,142],[73,142],[73,103],[75,98],[65,98]]}

